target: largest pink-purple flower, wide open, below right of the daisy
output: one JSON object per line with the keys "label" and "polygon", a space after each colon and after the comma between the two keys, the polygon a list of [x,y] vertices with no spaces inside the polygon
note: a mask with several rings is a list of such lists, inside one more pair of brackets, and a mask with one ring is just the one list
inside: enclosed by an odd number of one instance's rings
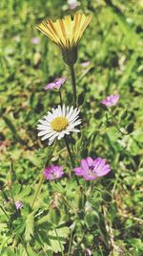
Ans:
{"label": "largest pink-purple flower, wide open, below right of the daisy", "polygon": [[75,175],[83,176],[85,180],[94,180],[99,176],[107,175],[111,172],[110,165],[107,164],[106,159],[97,157],[87,157],[81,160],[81,166],[73,169]]}

